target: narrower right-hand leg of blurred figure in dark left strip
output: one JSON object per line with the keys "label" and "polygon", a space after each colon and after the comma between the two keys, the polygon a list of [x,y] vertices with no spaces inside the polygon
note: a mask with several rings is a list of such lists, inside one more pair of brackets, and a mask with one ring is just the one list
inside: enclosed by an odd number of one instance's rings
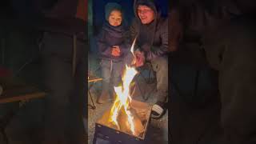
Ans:
{"label": "narrower right-hand leg of blurred figure in dark left strip", "polygon": [[84,144],[87,142],[82,121],[83,115],[87,117],[87,110],[83,112],[83,108],[87,104],[85,44],[82,42],[77,44],[77,65],[74,74],[73,93],[70,95],[70,121],[68,122],[69,128],[66,135],[70,138],[70,144]]}

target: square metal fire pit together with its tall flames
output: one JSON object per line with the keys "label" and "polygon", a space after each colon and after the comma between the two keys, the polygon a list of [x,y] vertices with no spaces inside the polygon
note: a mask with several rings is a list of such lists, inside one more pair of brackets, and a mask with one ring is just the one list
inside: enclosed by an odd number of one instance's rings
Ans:
{"label": "square metal fire pit together with its tall flames", "polygon": [[[134,55],[134,42],[130,52]],[[134,55],[134,60],[136,59]],[[96,122],[94,144],[97,139],[105,140],[102,143],[143,143],[147,126],[150,121],[151,106],[131,98],[130,83],[138,74],[134,63],[126,65],[122,74],[122,85],[115,87],[115,101],[110,109],[106,110]]]}

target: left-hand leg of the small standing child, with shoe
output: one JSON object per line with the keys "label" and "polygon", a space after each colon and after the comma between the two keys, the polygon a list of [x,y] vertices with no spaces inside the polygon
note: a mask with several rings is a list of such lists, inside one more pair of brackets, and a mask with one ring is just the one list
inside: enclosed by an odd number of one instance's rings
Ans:
{"label": "left-hand leg of the small standing child, with shoe", "polygon": [[101,62],[102,67],[102,94],[98,98],[98,103],[106,103],[110,98],[109,90],[110,90],[110,66],[111,62],[108,60],[103,60]]}

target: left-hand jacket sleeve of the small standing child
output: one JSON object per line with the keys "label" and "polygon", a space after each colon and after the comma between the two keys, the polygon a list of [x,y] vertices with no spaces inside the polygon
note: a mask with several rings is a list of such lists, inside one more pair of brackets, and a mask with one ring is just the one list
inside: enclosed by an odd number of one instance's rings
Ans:
{"label": "left-hand jacket sleeve of the small standing child", "polygon": [[97,38],[98,52],[102,56],[110,57],[111,56],[111,46],[108,46],[106,43],[106,33],[104,30],[98,35]]}

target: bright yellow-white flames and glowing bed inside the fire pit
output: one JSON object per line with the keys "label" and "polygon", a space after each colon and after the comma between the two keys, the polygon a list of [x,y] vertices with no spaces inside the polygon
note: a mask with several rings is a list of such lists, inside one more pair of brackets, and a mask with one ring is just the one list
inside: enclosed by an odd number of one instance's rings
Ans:
{"label": "bright yellow-white flames and glowing bed inside the fire pit", "polygon": [[[135,42],[136,38],[130,48],[133,55]],[[122,74],[122,85],[114,87],[116,94],[114,104],[110,110],[107,110],[106,113],[103,114],[98,122],[116,130],[139,136],[145,130],[146,112],[138,109],[135,110],[133,106],[131,106],[130,83],[136,74],[138,74],[138,71],[135,69],[135,66],[126,65],[124,73]]]}

